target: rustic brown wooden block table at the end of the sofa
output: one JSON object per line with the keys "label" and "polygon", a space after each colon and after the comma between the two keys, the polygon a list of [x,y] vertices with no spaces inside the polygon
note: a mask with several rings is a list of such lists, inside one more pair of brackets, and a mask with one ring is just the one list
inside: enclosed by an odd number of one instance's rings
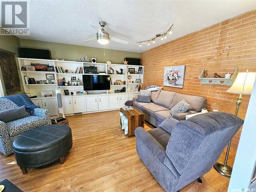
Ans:
{"label": "rustic brown wooden block table at the end of the sofa", "polygon": [[128,136],[129,137],[134,135],[134,131],[137,127],[141,126],[144,128],[145,116],[143,112],[135,108],[133,110],[127,110],[127,111],[121,108],[120,112],[128,119]]}

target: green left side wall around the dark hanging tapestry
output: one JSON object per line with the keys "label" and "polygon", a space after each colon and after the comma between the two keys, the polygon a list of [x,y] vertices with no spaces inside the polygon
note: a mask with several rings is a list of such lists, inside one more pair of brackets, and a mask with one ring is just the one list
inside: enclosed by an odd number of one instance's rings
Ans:
{"label": "green left side wall around the dark hanging tapestry", "polygon": [[[0,35],[0,49],[15,53],[15,57],[17,58],[19,47],[20,47],[20,44],[19,44],[19,38],[18,37],[9,36],[9,35]],[[16,59],[16,64],[17,64],[17,68],[18,68],[18,60],[17,59]],[[19,79],[20,79],[21,74],[19,72],[19,68],[18,68],[18,74],[19,74]],[[7,95],[6,90],[5,90],[5,85],[4,85],[4,79],[3,79],[3,76],[2,76],[2,71],[1,70],[0,70],[0,81],[1,81],[0,86],[3,89],[4,95]],[[20,87],[22,88],[22,92],[20,92],[20,93],[24,93],[22,80],[20,80]]]}

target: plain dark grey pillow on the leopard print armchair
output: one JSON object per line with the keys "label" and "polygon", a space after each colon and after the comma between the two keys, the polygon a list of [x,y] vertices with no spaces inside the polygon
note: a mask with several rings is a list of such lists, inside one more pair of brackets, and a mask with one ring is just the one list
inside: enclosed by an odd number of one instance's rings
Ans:
{"label": "plain dark grey pillow on the leopard print armchair", "polygon": [[8,123],[17,119],[22,119],[27,117],[25,105],[20,106],[19,108],[14,108],[11,110],[1,111],[0,112],[0,121]]}

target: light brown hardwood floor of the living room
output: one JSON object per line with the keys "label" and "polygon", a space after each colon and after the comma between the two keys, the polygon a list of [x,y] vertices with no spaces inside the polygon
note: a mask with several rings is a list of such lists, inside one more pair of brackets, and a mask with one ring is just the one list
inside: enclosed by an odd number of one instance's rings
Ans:
{"label": "light brown hardwood floor of the living room", "polygon": [[[136,153],[135,137],[120,128],[118,111],[68,116],[73,147],[64,164],[33,168],[26,175],[14,155],[0,155],[0,181],[10,180],[24,191],[164,191]],[[152,125],[146,123],[145,129]],[[228,164],[236,152],[230,150]],[[225,153],[220,160],[223,161]],[[227,191],[229,179],[214,168],[180,191]]]}

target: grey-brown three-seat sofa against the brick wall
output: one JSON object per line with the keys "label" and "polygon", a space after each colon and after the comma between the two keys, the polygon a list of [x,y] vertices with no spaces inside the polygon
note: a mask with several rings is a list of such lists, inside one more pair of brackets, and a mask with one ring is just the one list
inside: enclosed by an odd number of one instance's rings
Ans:
{"label": "grey-brown three-seat sofa against the brick wall", "polygon": [[185,99],[190,104],[190,108],[185,113],[175,114],[173,118],[177,120],[185,120],[186,115],[201,112],[203,108],[206,108],[206,99],[204,97],[165,90],[152,91],[151,103],[137,102],[137,98],[134,98],[133,106],[143,111],[145,120],[157,127],[170,116],[170,109],[182,99]]}

